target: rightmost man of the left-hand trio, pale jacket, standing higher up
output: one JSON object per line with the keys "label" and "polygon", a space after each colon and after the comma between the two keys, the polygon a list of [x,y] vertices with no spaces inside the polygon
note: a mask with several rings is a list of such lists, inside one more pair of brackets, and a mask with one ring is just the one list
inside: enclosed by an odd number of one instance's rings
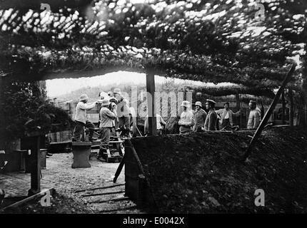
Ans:
{"label": "rightmost man of the left-hand trio, pale jacket, standing higher up", "polygon": [[124,128],[124,135],[128,136],[130,132],[130,109],[128,101],[121,95],[119,88],[114,89],[114,96],[119,101],[117,104],[117,117],[119,118],[119,128]]}

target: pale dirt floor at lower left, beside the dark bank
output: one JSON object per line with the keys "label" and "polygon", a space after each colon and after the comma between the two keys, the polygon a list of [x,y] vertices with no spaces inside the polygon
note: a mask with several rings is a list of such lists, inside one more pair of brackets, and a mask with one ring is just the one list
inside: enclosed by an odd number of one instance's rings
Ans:
{"label": "pale dirt floor at lower left, beside the dark bank", "polygon": [[[124,197],[124,169],[116,184],[113,183],[119,163],[101,162],[91,157],[90,168],[72,169],[72,157],[72,153],[54,154],[47,158],[46,170],[41,170],[41,189],[53,187],[56,190],[51,207],[42,207],[40,200],[36,200],[6,213],[143,213]],[[2,174],[0,186],[6,190],[6,197],[26,196],[30,175],[24,172]],[[109,188],[92,190],[101,187]],[[105,193],[107,195],[97,195]]]}

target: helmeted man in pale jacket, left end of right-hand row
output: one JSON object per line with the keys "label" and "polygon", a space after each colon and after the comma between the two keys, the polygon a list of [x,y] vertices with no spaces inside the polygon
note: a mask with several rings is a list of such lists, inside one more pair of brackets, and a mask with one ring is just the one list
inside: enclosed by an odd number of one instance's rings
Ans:
{"label": "helmeted man in pale jacket, left end of right-hand row", "polygon": [[183,100],[181,107],[183,112],[181,113],[178,125],[180,125],[179,133],[186,135],[192,132],[192,126],[194,125],[193,113],[188,110],[190,103],[187,100]]}

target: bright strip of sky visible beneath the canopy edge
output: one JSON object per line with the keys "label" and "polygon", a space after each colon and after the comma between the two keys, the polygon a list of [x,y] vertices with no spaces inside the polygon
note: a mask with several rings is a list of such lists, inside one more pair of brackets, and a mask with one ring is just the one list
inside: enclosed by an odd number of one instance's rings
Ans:
{"label": "bright strip of sky visible beneath the canopy edge", "polygon": [[[155,76],[156,83],[163,83],[167,81],[167,78],[161,76]],[[213,83],[202,83],[199,81],[189,81],[175,78],[175,83],[193,83],[195,86],[228,86],[230,83],[220,83],[214,85]],[[64,95],[70,93],[79,88],[84,88],[87,86],[124,86],[125,83],[136,83],[146,85],[146,75],[145,73],[136,73],[129,71],[117,71],[113,73],[107,73],[102,76],[94,76],[91,78],[59,78],[46,80],[47,95],[49,97],[56,97],[57,95]]]}

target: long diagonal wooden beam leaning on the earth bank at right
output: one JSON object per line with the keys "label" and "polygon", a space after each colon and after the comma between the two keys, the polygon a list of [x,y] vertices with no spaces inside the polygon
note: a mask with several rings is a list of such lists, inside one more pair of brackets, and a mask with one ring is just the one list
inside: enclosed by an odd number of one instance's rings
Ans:
{"label": "long diagonal wooden beam leaning on the earth bank at right", "polygon": [[283,90],[286,87],[286,84],[290,80],[290,78],[291,78],[293,72],[295,71],[295,69],[296,69],[296,63],[293,63],[290,71],[288,72],[285,79],[283,80],[281,87],[278,89],[278,91],[275,95],[275,98],[273,99],[273,101],[271,103],[270,108],[268,108],[268,111],[266,112],[266,115],[264,115],[263,120],[261,121],[260,125],[258,126],[255,135],[253,135],[251,143],[249,144],[245,154],[243,155],[243,162],[245,162],[246,159],[248,158],[248,156],[251,154],[251,149],[252,149],[253,145],[255,145],[256,140],[261,135],[263,128],[266,126],[266,123],[268,122],[268,118],[270,118],[271,114],[273,113],[273,110],[274,110],[276,104],[278,103],[279,98],[281,97],[281,93],[283,93]]}

